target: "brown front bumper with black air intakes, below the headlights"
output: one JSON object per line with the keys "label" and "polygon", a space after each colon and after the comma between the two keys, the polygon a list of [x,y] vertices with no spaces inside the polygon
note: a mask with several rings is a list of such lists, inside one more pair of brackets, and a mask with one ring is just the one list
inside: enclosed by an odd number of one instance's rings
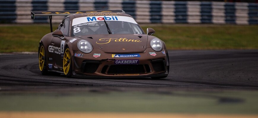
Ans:
{"label": "brown front bumper with black air intakes, below the headlights", "polygon": [[[166,49],[163,51],[167,52]],[[152,56],[149,54],[150,52],[155,52],[156,55]],[[74,53],[82,52],[74,51]],[[101,56],[95,58],[93,54],[101,54]],[[137,54],[140,57],[112,58],[112,53],[93,50],[91,53],[84,54],[83,57],[72,55],[74,60],[73,75],[88,78],[142,78],[168,75],[167,58],[162,51],[156,52],[151,48],[146,48],[144,52]],[[139,62],[119,65],[114,63],[116,60],[138,60]]]}

